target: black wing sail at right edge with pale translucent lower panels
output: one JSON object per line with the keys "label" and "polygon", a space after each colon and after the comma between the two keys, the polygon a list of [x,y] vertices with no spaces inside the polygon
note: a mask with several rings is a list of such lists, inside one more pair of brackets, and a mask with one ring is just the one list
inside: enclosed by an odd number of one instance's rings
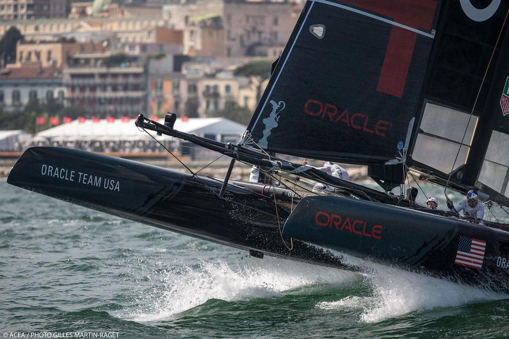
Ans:
{"label": "black wing sail at right edge with pale translucent lower panels", "polygon": [[409,159],[431,181],[475,186],[502,204],[509,203],[508,9],[500,0],[444,3]]}

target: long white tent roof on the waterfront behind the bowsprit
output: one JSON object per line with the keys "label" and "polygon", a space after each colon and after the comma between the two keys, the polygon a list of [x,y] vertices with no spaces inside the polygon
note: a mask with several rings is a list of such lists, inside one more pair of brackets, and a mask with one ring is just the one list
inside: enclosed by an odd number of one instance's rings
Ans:
{"label": "long white tent roof on the waterfront behind the bowsprit", "polygon": [[[116,119],[108,122],[106,119],[94,122],[86,120],[79,122],[74,120],[71,123],[59,125],[37,133],[37,139],[45,138],[50,141],[70,141],[70,140],[150,140],[152,139],[147,133],[139,130],[134,125],[135,119],[122,121]],[[159,120],[163,123],[163,119]],[[182,121],[178,118],[175,122],[175,129],[197,135],[214,134],[214,135],[240,135],[245,131],[246,126],[236,123],[225,118],[189,118]],[[149,131],[150,132],[150,131]],[[151,132],[153,133],[153,132]],[[155,132],[153,133],[155,136]],[[169,138],[168,136],[158,137]]]}

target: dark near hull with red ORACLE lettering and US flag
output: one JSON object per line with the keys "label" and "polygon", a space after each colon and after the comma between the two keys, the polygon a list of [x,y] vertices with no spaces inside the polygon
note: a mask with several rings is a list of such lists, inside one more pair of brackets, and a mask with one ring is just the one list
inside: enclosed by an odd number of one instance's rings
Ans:
{"label": "dark near hull with red ORACLE lettering and US flag", "polygon": [[283,234],[380,264],[509,293],[509,232],[483,224],[313,196],[297,205]]}

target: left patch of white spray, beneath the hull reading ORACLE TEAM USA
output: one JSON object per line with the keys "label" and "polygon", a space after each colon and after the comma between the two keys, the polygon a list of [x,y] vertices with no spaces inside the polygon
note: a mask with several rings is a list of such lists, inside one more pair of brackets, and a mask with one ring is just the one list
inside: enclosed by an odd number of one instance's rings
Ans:
{"label": "left patch of white spray, beneath the hull reading ORACLE TEAM USA", "polygon": [[210,299],[225,301],[278,297],[310,285],[339,286],[358,274],[266,257],[245,258],[241,263],[203,262],[162,273],[162,291],[142,293],[142,309],[127,315],[146,322],[171,319]]}

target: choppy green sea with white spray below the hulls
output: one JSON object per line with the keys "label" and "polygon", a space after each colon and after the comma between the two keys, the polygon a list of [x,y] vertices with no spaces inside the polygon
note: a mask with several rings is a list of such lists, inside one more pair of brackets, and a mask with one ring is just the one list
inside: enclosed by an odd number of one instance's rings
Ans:
{"label": "choppy green sea with white spray below the hulls", "polygon": [[[425,188],[444,201],[440,189]],[[419,199],[423,199],[420,196]],[[0,182],[0,329],[119,337],[501,337],[509,296],[160,231]]]}

